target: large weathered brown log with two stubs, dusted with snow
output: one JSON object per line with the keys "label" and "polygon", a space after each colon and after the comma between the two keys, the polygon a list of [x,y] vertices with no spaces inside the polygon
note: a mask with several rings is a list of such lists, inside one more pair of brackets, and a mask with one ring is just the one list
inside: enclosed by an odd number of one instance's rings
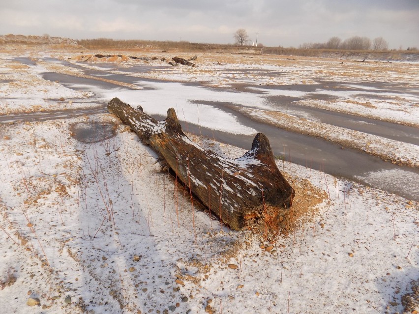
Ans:
{"label": "large weathered brown log with two stubs, dusted with snow", "polygon": [[264,217],[267,207],[279,219],[291,206],[295,191],[276,167],[262,133],[242,157],[227,159],[190,141],[173,108],[164,122],[118,98],[108,103],[108,110],[162,156],[177,178],[230,228],[239,230],[247,219]]}

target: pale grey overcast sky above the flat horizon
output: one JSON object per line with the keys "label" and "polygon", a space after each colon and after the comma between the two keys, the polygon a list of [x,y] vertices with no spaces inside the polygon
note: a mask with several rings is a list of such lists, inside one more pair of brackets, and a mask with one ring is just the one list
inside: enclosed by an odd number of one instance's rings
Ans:
{"label": "pale grey overcast sky above the flat horizon", "polygon": [[0,35],[227,44],[240,28],[265,46],[357,35],[419,48],[419,0],[0,0]]}

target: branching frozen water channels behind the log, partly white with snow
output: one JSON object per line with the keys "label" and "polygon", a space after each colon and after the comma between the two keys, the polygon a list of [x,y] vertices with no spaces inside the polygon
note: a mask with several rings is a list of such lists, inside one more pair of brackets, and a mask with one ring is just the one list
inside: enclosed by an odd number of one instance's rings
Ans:
{"label": "branching frozen water channels behind the log, partly white with snow", "polygon": [[[25,62],[24,59],[19,59]],[[48,59],[47,61],[54,61]],[[69,62],[59,61],[65,65],[77,67]],[[68,63],[68,64],[66,64]],[[31,61],[26,64],[32,65]],[[97,65],[95,65],[97,66]],[[82,67],[81,67],[82,68]],[[306,93],[315,91],[319,86],[280,86],[264,87],[241,85],[240,88],[211,88],[201,86],[199,83],[176,83],[144,79],[130,76],[132,73],[147,73],[153,67],[136,65],[132,67],[119,67],[112,64],[102,65],[102,69],[83,68],[86,75],[93,77],[106,77],[108,80],[134,84],[143,89],[132,90],[115,86],[109,82],[81,78],[47,72],[43,74],[46,80],[59,81],[60,84],[78,90],[91,91],[95,94],[93,101],[103,104],[103,107],[113,97],[136,107],[141,105],[145,112],[158,119],[164,119],[168,108],[173,107],[183,124],[185,131],[202,134],[216,141],[232,144],[249,149],[256,132],[268,136],[274,155],[280,159],[285,158],[302,166],[322,170],[329,174],[345,177],[363,184],[373,186],[391,193],[401,195],[408,199],[419,200],[419,170],[411,167],[400,167],[384,162],[378,157],[368,155],[362,151],[327,142],[323,139],[284,131],[280,128],[257,122],[243,114],[238,113],[230,105],[239,105],[257,109],[269,109],[303,116],[364,133],[370,133],[392,140],[419,144],[419,129],[390,122],[341,114],[316,108],[308,108],[294,104],[294,100],[306,97]],[[160,68],[161,69],[161,68]],[[124,72],[125,74],[121,73]],[[117,72],[118,74],[115,74]],[[322,84],[323,88],[325,84]],[[339,84],[329,82],[333,92],[339,89]],[[392,92],[403,87],[387,86]],[[265,95],[266,89],[283,89],[291,91],[289,96]],[[307,90],[307,88],[309,90]],[[343,88],[343,87],[342,87]],[[385,89],[383,84],[370,86],[353,85],[359,88],[359,93],[368,88]],[[409,91],[412,97],[418,92]],[[327,93],[326,93],[327,94]],[[294,95],[294,96],[293,96]],[[325,98],[325,94],[309,94],[309,97]],[[89,114],[103,111],[77,110],[66,112],[67,115]],[[45,119],[62,117],[61,113],[36,114],[16,116],[16,119]],[[7,119],[13,119],[8,116]],[[1,121],[1,120],[0,120]],[[198,122],[199,126],[198,127]],[[391,184],[389,184],[391,182]]]}

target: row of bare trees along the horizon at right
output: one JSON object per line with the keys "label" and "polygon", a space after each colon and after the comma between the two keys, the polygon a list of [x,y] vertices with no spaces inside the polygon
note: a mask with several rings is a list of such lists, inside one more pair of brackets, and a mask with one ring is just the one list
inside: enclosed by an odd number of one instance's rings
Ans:
{"label": "row of bare trees along the horizon at right", "polygon": [[300,49],[338,49],[338,50],[374,50],[386,51],[389,43],[383,37],[374,38],[353,36],[342,41],[339,37],[331,37],[326,43],[304,43]]}

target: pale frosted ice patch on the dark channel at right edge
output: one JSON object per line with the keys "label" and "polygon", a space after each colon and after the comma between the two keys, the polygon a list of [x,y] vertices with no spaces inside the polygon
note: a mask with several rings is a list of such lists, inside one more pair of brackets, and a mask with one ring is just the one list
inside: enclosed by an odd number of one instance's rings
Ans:
{"label": "pale frosted ice patch on the dark channel at right edge", "polygon": [[356,176],[356,178],[365,181],[373,187],[380,189],[383,186],[387,186],[388,190],[397,192],[399,195],[419,200],[418,173],[392,169],[366,172]]}

